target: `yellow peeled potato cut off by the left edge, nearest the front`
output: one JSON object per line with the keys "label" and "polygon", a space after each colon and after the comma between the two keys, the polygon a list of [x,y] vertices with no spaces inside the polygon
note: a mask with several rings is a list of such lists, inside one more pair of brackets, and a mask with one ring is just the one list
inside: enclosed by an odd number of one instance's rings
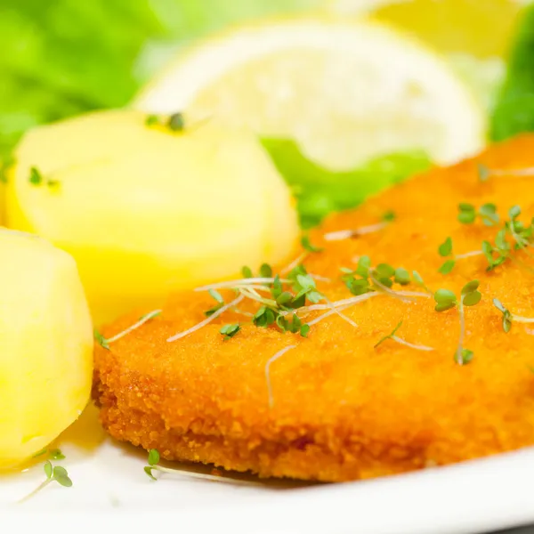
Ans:
{"label": "yellow peeled potato cut off by the left edge, nearest the front", "polygon": [[0,468],[44,449],[89,401],[93,329],[74,260],[0,228]]}

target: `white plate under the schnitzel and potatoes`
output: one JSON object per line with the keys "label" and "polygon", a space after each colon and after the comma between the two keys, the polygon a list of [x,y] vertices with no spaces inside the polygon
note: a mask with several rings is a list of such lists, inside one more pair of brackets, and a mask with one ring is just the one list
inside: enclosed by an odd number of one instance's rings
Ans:
{"label": "white plate under the schnitzel and potatoes", "polygon": [[100,441],[94,410],[61,438],[72,488],[54,483],[13,504],[44,480],[42,464],[0,479],[2,531],[58,532],[60,517],[61,530],[125,534],[159,523],[187,534],[474,534],[534,522],[534,449],[375,481],[245,487],[150,481],[142,451],[109,439],[83,448],[80,434]]}

